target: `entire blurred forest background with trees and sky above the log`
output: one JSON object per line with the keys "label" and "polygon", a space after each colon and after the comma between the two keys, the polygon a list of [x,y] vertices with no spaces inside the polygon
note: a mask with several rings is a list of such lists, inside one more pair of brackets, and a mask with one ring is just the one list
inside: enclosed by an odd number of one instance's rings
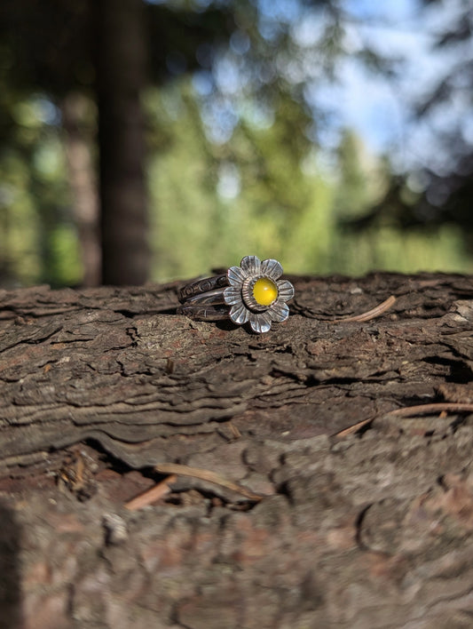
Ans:
{"label": "entire blurred forest background with trees and sky above the log", "polygon": [[472,272],[472,32],[469,0],[3,0],[0,284]]}

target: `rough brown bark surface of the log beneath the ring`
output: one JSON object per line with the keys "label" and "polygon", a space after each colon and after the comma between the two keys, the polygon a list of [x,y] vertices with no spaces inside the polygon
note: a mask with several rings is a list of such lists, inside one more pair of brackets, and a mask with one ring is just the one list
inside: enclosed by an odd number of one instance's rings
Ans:
{"label": "rough brown bark surface of the log beneath the ring", "polygon": [[[0,626],[471,626],[472,278],[291,279],[261,336],[177,284],[0,291]],[[125,508],[172,463],[243,489]]]}

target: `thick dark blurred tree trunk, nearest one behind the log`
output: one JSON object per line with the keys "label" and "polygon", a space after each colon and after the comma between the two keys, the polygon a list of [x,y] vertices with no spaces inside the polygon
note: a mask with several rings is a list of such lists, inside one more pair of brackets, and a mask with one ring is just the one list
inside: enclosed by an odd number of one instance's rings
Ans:
{"label": "thick dark blurred tree trunk, nearest one behind the log", "polygon": [[102,282],[149,273],[145,180],[146,28],[142,0],[97,0]]}

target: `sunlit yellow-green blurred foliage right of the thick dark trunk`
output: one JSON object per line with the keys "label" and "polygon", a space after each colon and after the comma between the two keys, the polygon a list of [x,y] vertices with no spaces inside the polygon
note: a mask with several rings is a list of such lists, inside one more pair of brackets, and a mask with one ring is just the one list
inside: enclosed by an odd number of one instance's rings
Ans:
{"label": "sunlit yellow-green blurred foliage right of the thick dark trunk", "polygon": [[187,83],[154,91],[147,108],[162,129],[149,167],[154,280],[208,273],[248,253],[280,259],[289,273],[472,269],[453,227],[347,230],[345,219],[363,218],[382,197],[387,163],[346,131],[324,166],[324,154],[301,140],[307,120],[295,101],[280,100],[270,126],[244,121],[223,145],[206,138]]}

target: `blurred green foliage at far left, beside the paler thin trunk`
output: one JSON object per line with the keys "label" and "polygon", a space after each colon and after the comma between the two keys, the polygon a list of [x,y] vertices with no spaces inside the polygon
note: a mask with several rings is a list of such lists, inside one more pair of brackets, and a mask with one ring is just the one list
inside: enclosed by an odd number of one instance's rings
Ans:
{"label": "blurred green foliage at far left, beside the paler thin trunk", "polygon": [[13,140],[0,151],[0,282],[80,283],[59,128],[45,123],[45,100],[12,100]]}

